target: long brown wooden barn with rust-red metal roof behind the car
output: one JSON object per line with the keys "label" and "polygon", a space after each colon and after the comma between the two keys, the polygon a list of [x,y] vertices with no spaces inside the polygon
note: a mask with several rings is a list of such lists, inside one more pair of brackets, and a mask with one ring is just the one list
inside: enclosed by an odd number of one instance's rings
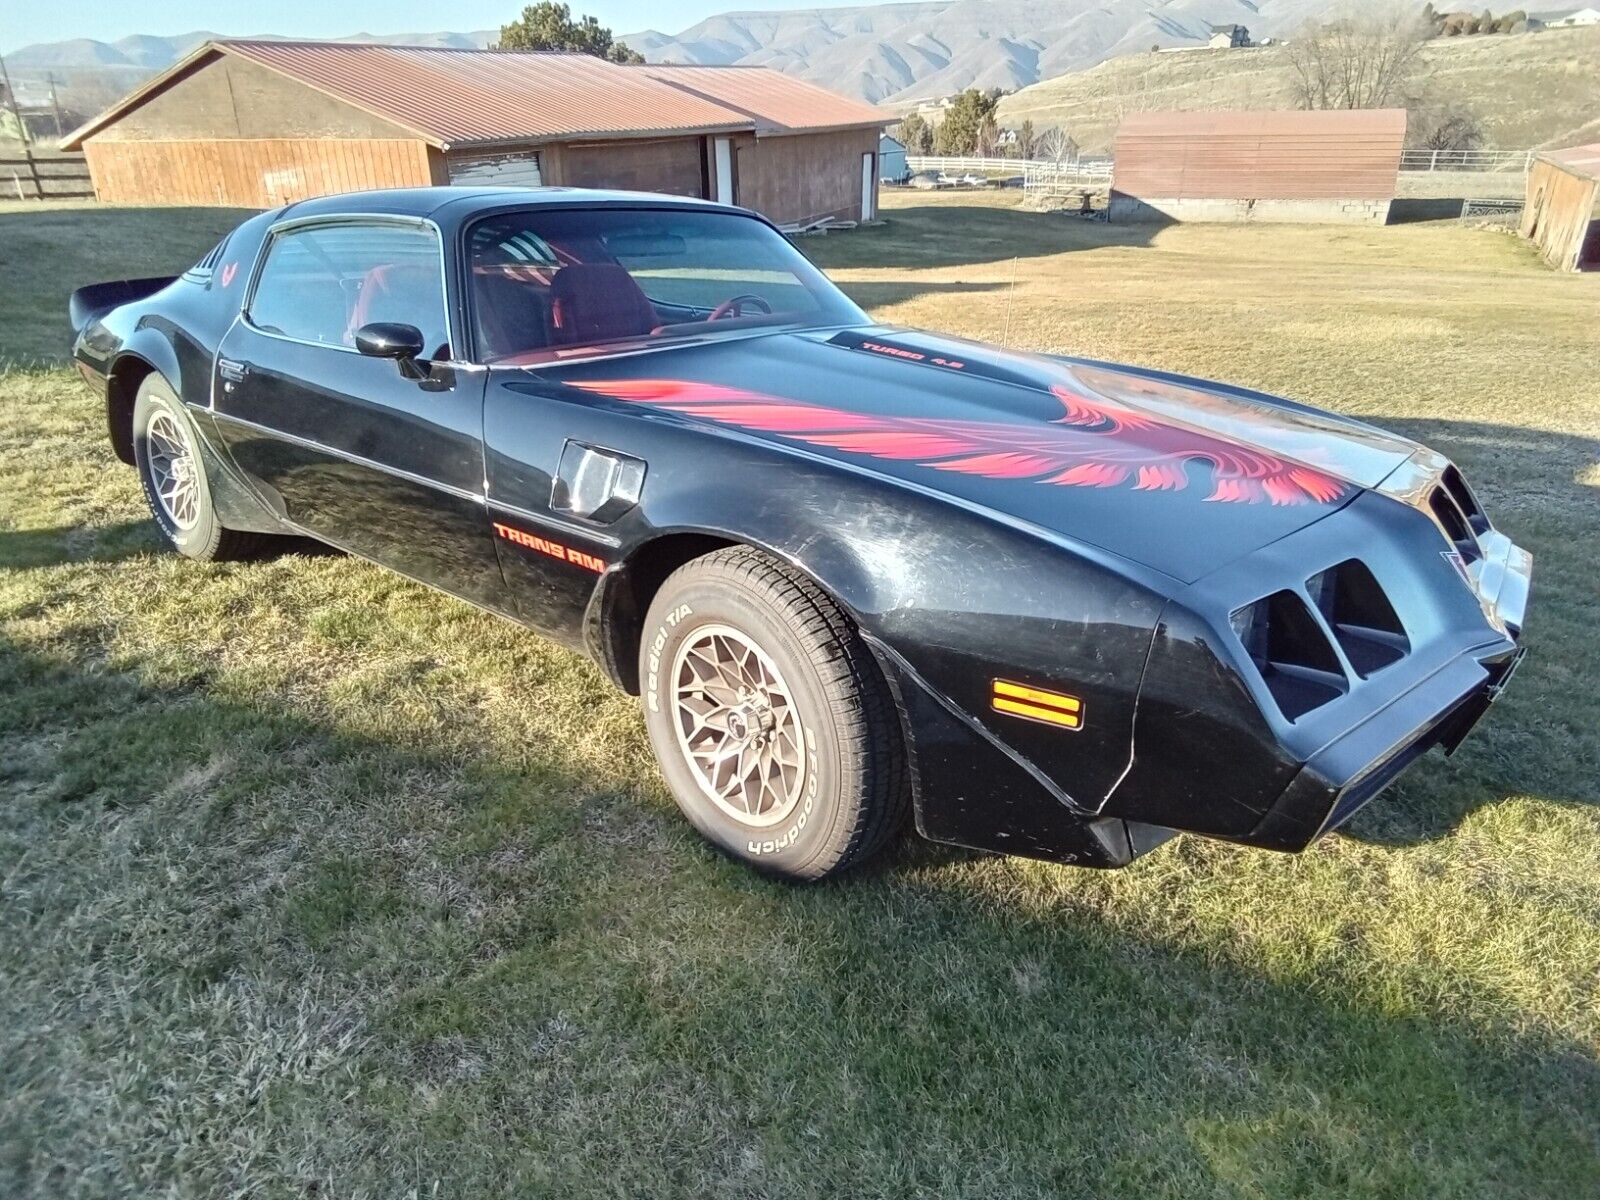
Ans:
{"label": "long brown wooden barn with rust-red metal roof behind the car", "polygon": [[877,211],[891,120],[765,67],[219,40],[72,131],[101,200],[267,208],[446,182],[714,197],[774,221]]}

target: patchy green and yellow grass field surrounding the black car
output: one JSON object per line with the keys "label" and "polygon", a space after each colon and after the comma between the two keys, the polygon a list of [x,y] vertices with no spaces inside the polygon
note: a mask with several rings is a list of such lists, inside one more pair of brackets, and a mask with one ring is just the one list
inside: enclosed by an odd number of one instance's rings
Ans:
{"label": "patchy green and yellow grass field surrounding the black car", "polygon": [[[1483,728],[1299,858],[781,886],[597,670],[349,558],[168,554],[75,376],[14,368],[0,1195],[1600,1194],[1600,280],[1454,226],[891,203],[805,243],[886,318],[1454,454],[1536,557]],[[229,219],[0,210],[0,347]]]}

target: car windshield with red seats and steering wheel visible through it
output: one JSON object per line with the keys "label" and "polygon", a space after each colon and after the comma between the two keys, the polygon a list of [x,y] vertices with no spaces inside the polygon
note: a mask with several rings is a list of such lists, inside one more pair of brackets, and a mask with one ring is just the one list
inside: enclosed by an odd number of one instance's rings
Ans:
{"label": "car windshield with red seats and steering wheel visible through it", "polygon": [[472,226],[467,256],[485,363],[866,320],[782,234],[734,213],[502,213]]}

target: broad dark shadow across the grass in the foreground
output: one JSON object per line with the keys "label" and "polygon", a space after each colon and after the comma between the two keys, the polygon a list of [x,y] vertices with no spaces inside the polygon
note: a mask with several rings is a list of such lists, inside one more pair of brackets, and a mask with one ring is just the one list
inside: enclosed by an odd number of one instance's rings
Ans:
{"label": "broad dark shadow across the grass in the foreground", "polygon": [[[462,757],[62,645],[0,640],[10,1194],[88,1162],[472,1195],[1600,1184],[1589,1048],[1397,1005],[1358,942],[1269,976],[1248,939],[962,853],[771,883],[557,744]],[[107,1078],[162,1080],[146,1141],[112,1141],[149,1101]]]}

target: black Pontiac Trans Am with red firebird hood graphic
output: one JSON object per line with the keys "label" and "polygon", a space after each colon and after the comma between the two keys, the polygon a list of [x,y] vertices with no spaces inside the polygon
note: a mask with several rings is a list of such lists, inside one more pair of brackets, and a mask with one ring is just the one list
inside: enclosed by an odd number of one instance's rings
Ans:
{"label": "black Pontiac Trans Am with red firebird hood graphic", "polygon": [[179,552],[309,534],[582,650],[690,821],[792,878],[907,811],[1090,867],[1301,850],[1522,654],[1530,557],[1430,450],[874,325],[733,208],[310,200],[72,322]]}

